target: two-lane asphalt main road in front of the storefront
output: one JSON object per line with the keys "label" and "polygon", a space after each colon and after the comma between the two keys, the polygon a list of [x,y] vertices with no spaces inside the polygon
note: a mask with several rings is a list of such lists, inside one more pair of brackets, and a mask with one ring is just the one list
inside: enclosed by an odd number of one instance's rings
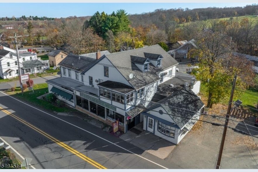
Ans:
{"label": "two-lane asphalt main road in front of the storefront", "polygon": [[0,137],[35,168],[178,168],[77,117],[45,113],[2,92]]}

